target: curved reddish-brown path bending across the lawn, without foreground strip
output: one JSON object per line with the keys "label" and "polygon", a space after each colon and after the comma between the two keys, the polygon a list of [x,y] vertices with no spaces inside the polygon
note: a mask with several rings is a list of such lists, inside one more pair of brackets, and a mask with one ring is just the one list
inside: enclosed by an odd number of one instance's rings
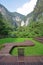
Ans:
{"label": "curved reddish-brown path bending across the lawn, without foreground strip", "polygon": [[25,41],[21,43],[9,43],[9,44],[4,44],[4,48],[0,51],[0,56],[8,56],[10,55],[9,52],[13,47],[19,47],[19,46],[34,46],[33,42],[31,41]]}

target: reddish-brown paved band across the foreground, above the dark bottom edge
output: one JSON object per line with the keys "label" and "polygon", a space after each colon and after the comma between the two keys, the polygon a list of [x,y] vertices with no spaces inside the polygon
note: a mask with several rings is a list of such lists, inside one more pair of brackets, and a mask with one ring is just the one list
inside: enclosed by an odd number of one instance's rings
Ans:
{"label": "reddish-brown paved band across the foreground, above the dark bottom edge", "polygon": [[0,56],[0,62],[43,62],[43,56],[26,56],[26,57],[16,57],[16,56]]}

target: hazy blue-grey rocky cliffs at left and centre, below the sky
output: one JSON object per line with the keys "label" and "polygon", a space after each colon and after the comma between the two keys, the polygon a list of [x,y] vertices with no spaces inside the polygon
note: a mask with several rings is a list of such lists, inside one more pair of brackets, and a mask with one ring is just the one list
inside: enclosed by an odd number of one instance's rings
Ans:
{"label": "hazy blue-grey rocky cliffs at left and centre, below the sky", "polygon": [[21,26],[21,22],[24,21],[24,15],[17,12],[9,12],[3,5],[0,4],[0,13],[3,16],[4,22],[12,27]]}

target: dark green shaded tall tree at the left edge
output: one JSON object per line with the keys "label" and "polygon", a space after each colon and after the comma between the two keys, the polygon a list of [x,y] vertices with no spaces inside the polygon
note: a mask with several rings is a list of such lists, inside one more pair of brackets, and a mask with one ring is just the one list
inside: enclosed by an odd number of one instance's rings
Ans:
{"label": "dark green shaded tall tree at the left edge", "polygon": [[3,16],[0,13],[0,37],[8,35],[8,27],[3,21]]}

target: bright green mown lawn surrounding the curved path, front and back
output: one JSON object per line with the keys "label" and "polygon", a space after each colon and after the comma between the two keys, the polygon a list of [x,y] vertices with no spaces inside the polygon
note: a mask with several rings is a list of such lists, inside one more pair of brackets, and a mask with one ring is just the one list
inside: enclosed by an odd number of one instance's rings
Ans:
{"label": "bright green mown lawn surrounding the curved path, front and back", "polygon": [[[5,43],[12,43],[12,42],[24,42],[25,40],[31,40],[35,46],[32,47],[24,47],[24,54],[25,56],[34,56],[34,55],[43,55],[43,44],[35,41],[32,38],[4,38],[0,39],[0,45]],[[11,52],[12,55],[17,56],[18,55],[18,47],[14,48]]]}

